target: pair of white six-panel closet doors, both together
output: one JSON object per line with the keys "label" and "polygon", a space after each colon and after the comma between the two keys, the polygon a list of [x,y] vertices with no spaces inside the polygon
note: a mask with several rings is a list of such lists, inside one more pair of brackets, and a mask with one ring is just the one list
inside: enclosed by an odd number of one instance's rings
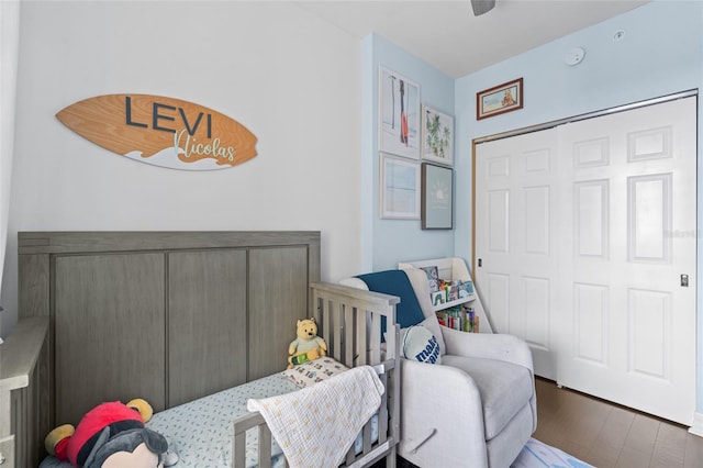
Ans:
{"label": "pair of white six-panel closet doors, both together", "polygon": [[691,425],[695,98],[476,146],[477,287],[538,375]]}

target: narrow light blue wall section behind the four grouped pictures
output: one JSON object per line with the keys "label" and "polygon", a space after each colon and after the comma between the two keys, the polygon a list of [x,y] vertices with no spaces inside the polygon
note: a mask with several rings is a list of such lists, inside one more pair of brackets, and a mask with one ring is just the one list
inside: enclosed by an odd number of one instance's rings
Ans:
{"label": "narrow light blue wall section behind the four grouped pictures", "polygon": [[415,81],[422,103],[449,114],[454,113],[454,79],[375,34],[362,41],[361,59],[362,269],[377,271],[397,268],[402,260],[451,256],[454,231],[423,231],[420,220],[379,216],[378,68],[382,65]]}

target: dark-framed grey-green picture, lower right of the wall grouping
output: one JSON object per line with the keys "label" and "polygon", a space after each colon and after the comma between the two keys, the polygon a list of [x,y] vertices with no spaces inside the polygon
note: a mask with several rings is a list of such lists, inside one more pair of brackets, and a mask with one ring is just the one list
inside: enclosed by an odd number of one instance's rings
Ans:
{"label": "dark-framed grey-green picture, lower right of the wall grouping", "polygon": [[453,227],[453,176],[449,167],[422,164],[422,229],[450,230]]}

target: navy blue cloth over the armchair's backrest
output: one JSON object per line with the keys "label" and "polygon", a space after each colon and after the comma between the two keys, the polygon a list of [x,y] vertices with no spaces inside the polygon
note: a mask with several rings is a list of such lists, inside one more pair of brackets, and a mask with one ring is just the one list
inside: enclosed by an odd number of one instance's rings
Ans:
{"label": "navy blue cloth over the armchair's backrest", "polygon": [[[415,290],[403,270],[376,271],[366,275],[358,275],[361,281],[366,282],[370,291],[382,292],[384,294],[398,296],[400,303],[395,307],[395,321],[401,328],[417,325],[425,320],[420,302],[415,296]],[[381,323],[381,332],[386,332],[386,321]]]}

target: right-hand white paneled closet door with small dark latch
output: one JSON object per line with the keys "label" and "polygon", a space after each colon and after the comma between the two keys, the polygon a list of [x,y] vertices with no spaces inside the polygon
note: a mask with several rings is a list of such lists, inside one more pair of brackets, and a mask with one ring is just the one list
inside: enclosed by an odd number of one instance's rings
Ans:
{"label": "right-hand white paneled closet door with small dark latch", "polygon": [[696,102],[565,125],[559,381],[681,424],[695,405]]}

